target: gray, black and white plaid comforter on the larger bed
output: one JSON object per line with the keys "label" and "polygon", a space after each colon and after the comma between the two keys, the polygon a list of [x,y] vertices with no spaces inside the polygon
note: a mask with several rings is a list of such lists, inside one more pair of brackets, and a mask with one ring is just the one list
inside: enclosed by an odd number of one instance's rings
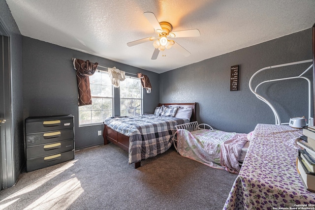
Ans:
{"label": "gray, black and white plaid comforter on the larger bed", "polygon": [[129,136],[129,164],[168,150],[173,143],[175,125],[183,123],[184,120],[179,118],[151,114],[113,117],[104,121],[108,127]]}

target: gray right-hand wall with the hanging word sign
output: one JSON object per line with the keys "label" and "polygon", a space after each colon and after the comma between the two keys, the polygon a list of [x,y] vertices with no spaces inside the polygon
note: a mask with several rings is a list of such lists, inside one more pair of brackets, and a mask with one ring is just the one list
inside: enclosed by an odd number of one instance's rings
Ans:
{"label": "gray right-hand wall with the hanging word sign", "polygon": [[[309,29],[203,60],[160,74],[160,102],[197,102],[199,123],[224,131],[248,133],[257,123],[275,123],[271,109],[250,91],[251,76],[263,67],[309,60],[312,55],[312,30]],[[297,76],[311,64],[277,71],[268,69],[257,75],[253,84],[283,75]],[[238,91],[230,91],[233,65],[240,65]],[[311,71],[308,77],[312,81]],[[282,122],[308,116],[307,82],[302,79],[265,84],[258,92],[271,100]]]}

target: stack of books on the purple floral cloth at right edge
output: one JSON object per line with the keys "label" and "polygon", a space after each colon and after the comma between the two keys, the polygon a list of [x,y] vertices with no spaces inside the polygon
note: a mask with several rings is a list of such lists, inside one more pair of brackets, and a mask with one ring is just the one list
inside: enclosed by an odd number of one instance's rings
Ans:
{"label": "stack of books on the purple floral cloth at right edge", "polygon": [[307,190],[315,192],[315,126],[304,127],[303,135],[304,140],[297,141],[304,148],[299,150],[297,170]]}

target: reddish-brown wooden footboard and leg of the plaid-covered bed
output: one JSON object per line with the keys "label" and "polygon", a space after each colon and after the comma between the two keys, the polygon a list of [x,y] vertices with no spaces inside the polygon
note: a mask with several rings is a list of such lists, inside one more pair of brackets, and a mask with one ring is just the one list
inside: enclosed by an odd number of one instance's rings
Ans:
{"label": "reddish-brown wooden footboard and leg of the plaid-covered bed", "polygon": [[[104,145],[108,144],[108,141],[111,141],[113,144],[117,145],[119,148],[129,152],[129,136],[125,136],[113,130],[112,128],[104,125],[103,131]],[[138,168],[141,166],[141,161],[134,163],[134,168]]]}

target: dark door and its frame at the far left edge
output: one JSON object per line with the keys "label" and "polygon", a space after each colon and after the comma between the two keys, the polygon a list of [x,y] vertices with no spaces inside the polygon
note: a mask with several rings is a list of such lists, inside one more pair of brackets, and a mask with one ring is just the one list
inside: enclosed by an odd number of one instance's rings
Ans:
{"label": "dark door and its frame at the far left edge", "polygon": [[[11,34],[0,18],[0,37],[3,54],[1,60],[3,65],[0,66],[0,73],[3,75],[3,81],[0,81],[3,89],[3,110],[0,110],[0,118],[5,119],[1,123],[0,138],[0,190],[11,187],[15,184],[15,165],[14,165],[14,141],[12,139],[12,81],[11,81]],[[2,91],[2,90],[1,90]],[[2,98],[0,99],[0,101]],[[3,112],[3,113],[2,113]]]}

